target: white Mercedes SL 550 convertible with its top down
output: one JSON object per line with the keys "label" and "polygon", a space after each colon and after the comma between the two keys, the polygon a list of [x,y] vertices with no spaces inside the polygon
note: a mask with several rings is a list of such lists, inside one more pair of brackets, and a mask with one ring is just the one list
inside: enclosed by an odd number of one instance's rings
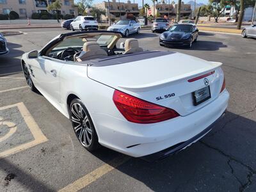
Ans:
{"label": "white Mercedes SL 550 convertible with its top down", "polygon": [[[56,36],[22,56],[31,90],[70,119],[87,150],[100,145],[148,161],[200,140],[224,113],[221,63],[171,51],[143,51],[114,31]],[[122,44],[122,43],[121,43]]]}

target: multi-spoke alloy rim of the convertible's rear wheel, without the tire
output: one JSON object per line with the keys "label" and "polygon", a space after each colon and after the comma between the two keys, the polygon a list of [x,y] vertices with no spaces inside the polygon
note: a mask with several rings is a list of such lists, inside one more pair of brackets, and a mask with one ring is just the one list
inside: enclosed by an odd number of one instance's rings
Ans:
{"label": "multi-spoke alloy rim of the convertible's rear wheel, without the tire", "polygon": [[93,129],[83,107],[78,102],[71,106],[71,121],[76,136],[84,147],[90,147],[93,138]]}

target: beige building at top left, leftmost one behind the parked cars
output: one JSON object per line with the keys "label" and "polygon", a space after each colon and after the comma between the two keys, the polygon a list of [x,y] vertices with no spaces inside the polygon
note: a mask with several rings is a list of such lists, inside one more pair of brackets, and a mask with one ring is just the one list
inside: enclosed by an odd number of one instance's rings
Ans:
{"label": "beige building at top left, leftmost one behind the parked cars", "polygon": [[[0,0],[0,14],[8,14],[15,11],[20,18],[31,17],[32,13],[47,11],[47,5],[55,0]],[[77,15],[77,6],[74,0],[61,0],[61,14]]]}

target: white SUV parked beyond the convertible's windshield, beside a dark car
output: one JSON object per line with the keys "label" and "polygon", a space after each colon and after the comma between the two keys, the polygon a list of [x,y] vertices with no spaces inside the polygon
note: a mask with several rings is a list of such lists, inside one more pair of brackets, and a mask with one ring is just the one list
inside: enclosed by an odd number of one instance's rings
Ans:
{"label": "white SUV parked beyond the convertible's windshield, beside a dark car", "polygon": [[70,23],[70,29],[72,31],[75,31],[76,29],[81,31],[97,30],[98,28],[99,24],[97,20],[92,16],[77,16],[76,19]]}

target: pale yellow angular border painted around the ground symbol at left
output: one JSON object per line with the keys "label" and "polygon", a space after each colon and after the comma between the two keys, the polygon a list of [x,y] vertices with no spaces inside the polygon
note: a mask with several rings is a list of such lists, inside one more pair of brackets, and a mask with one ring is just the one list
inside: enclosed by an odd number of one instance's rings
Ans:
{"label": "pale yellow angular border painted around the ground symbol at left", "polygon": [[44,143],[45,141],[48,141],[45,137],[44,133],[41,131],[41,129],[36,124],[34,118],[29,113],[28,109],[24,105],[23,102],[19,102],[17,104],[12,104],[9,106],[0,107],[0,110],[8,109],[8,108],[14,108],[17,107],[20,111],[21,116],[24,118],[24,121],[28,125],[29,131],[35,138],[35,140],[30,141],[28,143],[24,143],[22,145],[18,145],[17,147],[10,148],[8,150],[5,150],[3,152],[0,152],[0,159],[3,157],[10,156],[12,154],[15,154],[17,152],[20,152],[22,150],[26,150],[27,148],[34,147],[35,145],[38,145],[40,143]]}

